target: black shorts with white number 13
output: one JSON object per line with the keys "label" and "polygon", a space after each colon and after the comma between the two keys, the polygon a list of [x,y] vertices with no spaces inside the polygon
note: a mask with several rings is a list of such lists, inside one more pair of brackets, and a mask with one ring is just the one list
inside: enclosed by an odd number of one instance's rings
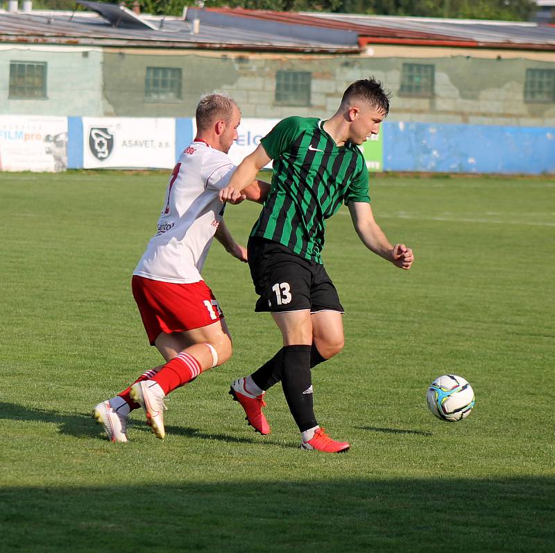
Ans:
{"label": "black shorts with white number 13", "polygon": [[260,296],[255,311],[345,312],[324,266],[298,256],[278,242],[249,238],[248,265]]}

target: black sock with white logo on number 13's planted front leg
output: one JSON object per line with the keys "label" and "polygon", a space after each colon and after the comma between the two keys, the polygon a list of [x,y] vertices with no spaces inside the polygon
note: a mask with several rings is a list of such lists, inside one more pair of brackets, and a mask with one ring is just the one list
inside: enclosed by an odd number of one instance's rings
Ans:
{"label": "black sock with white logo on number 13's planted front leg", "polygon": [[299,430],[302,432],[314,428],[318,423],[314,415],[312,399],[309,345],[283,347],[282,387],[289,411]]}

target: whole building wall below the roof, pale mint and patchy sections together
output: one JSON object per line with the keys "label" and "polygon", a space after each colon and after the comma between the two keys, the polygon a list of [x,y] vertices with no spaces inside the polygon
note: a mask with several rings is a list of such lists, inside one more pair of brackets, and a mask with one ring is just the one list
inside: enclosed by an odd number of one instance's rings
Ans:
{"label": "whole building wall below the roof, pale mint and patchy sections together", "polygon": [[[47,99],[10,99],[10,61],[46,61]],[[404,63],[434,65],[432,97],[400,94]],[[181,98],[148,101],[147,67],[178,67]],[[192,117],[202,94],[228,92],[244,117],[329,117],[343,90],[374,75],[393,92],[388,121],[554,126],[555,103],[524,102],[527,69],[555,71],[555,53],[368,47],[362,55],[300,55],[114,49],[0,47],[0,112],[15,115]],[[311,73],[306,106],[275,101],[276,72]]]}

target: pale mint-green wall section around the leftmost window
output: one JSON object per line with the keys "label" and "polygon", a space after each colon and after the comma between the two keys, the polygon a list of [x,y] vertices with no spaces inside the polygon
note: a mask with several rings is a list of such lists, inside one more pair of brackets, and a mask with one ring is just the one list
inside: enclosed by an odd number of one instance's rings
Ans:
{"label": "pale mint-green wall section around the leftmost window", "polygon": [[[46,98],[10,99],[10,63],[46,62]],[[102,51],[85,47],[0,46],[0,113],[103,115]]]}

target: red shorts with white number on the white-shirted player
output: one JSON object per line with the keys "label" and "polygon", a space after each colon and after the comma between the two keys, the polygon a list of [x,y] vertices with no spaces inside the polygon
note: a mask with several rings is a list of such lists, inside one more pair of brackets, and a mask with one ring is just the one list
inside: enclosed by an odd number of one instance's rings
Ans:
{"label": "red shorts with white number on the white-shirted player", "polygon": [[133,275],[133,297],[151,345],[162,332],[183,332],[207,327],[223,317],[205,281],[174,284]]}

